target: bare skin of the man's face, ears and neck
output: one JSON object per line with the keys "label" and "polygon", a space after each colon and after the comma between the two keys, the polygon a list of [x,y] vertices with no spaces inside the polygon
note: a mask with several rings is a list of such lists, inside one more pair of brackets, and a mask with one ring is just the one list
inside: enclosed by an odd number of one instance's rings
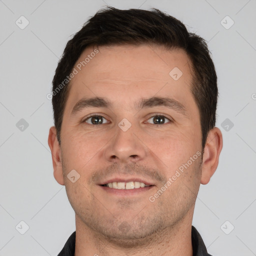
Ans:
{"label": "bare skin of the man's face, ears and neck", "polygon": [[[94,48],[88,47],[77,63]],[[169,72],[178,67],[182,76]],[[72,78],[63,114],[61,144],[55,127],[49,130],[54,177],[65,185],[75,211],[75,255],[192,256],[191,223],[199,185],[209,182],[218,164],[222,135],[208,133],[204,153],[184,169],[153,202],[154,195],[179,166],[201,148],[199,110],[190,91],[191,64],[181,49],[161,46],[100,46],[99,53]],[[83,97],[104,97],[110,107],[90,107],[71,114]],[[134,102],[152,96],[169,97],[186,114],[166,106],[138,110]],[[90,124],[89,114],[103,116]],[[163,124],[152,116],[164,114]],[[123,131],[118,123],[131,126]],[[86,121],[86,122],[85,122]],[[75,169],[80,177],[67,178]],[[107,192],[100,182],[112,177],[143,177],[153,184],[134,194]],[[131,179],[132,180],[132,179]]]}

